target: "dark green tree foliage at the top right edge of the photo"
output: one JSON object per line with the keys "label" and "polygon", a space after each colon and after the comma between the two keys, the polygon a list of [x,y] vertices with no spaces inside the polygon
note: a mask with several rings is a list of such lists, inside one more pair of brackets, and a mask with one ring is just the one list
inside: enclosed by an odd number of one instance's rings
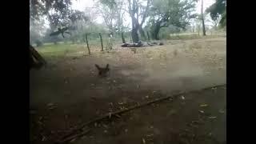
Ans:
{"label": "dark green tree foliage at the top right edge of the photo", "polygon": [[212,20],[216,21],[218,18],[221,27],[226,26],[226,0],[216,0],[216,2],[206,9],[206,13],[210,13]]}

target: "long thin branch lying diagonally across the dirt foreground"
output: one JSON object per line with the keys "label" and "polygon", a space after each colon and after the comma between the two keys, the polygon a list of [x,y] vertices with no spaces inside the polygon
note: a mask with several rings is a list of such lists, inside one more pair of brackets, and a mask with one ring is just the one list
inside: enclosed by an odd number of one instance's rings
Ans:
{"label": "long thin branch lying diagonally across the dirt foreground", "polygon": [[129,108],[127,108],[125,110],[118,110],[118,111],[113,112],[113,113],[104,114],[102,117],[95,118],[95,119],[93,119],[93,120],[91,120],[89,122],[86,122],[86,123],[82,124],[82,126],[79,126],[75,130],[72,130],[70,132],[70,134],[65,135],[63,138],[68,138],[70,136],[71,136],[71,138],[73,138],[74,136],[72,136],[72,134],[75,134],[76,132],[78,132],[78,130],[82,130],[82,128],[84,128],[85,126],[90,125],[90,124],[92,124],[94,122],[101,121],[102,119],[111,118],[111,115],[115,116],[115,115],[122,114],[122,113],[125,113],[125,112],[130,111],[130,110],[138,109],[138,108],[140,108],[142,106],[150,105],[151,103],[161,102],[161,101],[169,99],[169,98],[177,98],[178,96],[181,96],[183,94],[197,93],[197,92],[202,91],[202,90],[210,90],[212,88],[221,87],[221,86],[226,86],[226,84],[218,85],[218,86],[211,86],[211,87],[207,87],[207,88],[204,88],[204,89],[201,89],[201,90],[192,90],[192,91],[188,91],[188,92],[182,92],[182,93],[179,93],[179,94],[174,94],[174,95],[166,96],[166,97],[163,97],[163,98],[156,98],[156,99],[154,99],[152,101],[149,101],[149,102],[144,102],[142,104],[138,103],[138,105],[136,105],[136,106],[130,106]]}

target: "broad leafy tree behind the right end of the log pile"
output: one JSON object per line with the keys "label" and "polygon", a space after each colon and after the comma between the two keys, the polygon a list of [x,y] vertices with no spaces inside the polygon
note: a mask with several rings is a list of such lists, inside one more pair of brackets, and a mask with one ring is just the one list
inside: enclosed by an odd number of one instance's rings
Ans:
{"label": "broad leafy tree behind the right end of the log pile", "polygon": [[159,31],[162,27],[177,26],[185,29],[195,7],[195,0],[154,0],[150,8],[150,31],[154,39],[159,39]]}

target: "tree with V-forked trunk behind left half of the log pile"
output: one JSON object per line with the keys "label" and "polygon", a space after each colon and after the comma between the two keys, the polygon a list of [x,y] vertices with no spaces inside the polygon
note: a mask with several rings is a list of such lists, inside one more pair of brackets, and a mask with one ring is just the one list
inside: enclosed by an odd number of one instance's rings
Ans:
{"label": "tree with V-forked trunk behind left half of the log pile", "polygon": [[[148,16],[148,10],[150,6],[150,0],[146,1],[146,6],[142,4],[139,0],[128,0],[128,10],[131,18],[131,37],[133,42],[138,43],[138,30],[142,30],[142,25]],[[139,22],[139,19],[141,20]]]}

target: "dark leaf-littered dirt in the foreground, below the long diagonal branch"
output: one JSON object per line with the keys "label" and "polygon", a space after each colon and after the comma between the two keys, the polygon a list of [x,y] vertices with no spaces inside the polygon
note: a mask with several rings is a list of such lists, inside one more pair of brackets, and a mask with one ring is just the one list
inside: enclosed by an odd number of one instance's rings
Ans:
{"label": "dark leaf-littered dirt in the foreground, below the long diagonal branch", "polygon": [[[226,143],[226,87],[186,94],[97,123],[77,143]],[[207,105],[202,107],[203,105]]]}

